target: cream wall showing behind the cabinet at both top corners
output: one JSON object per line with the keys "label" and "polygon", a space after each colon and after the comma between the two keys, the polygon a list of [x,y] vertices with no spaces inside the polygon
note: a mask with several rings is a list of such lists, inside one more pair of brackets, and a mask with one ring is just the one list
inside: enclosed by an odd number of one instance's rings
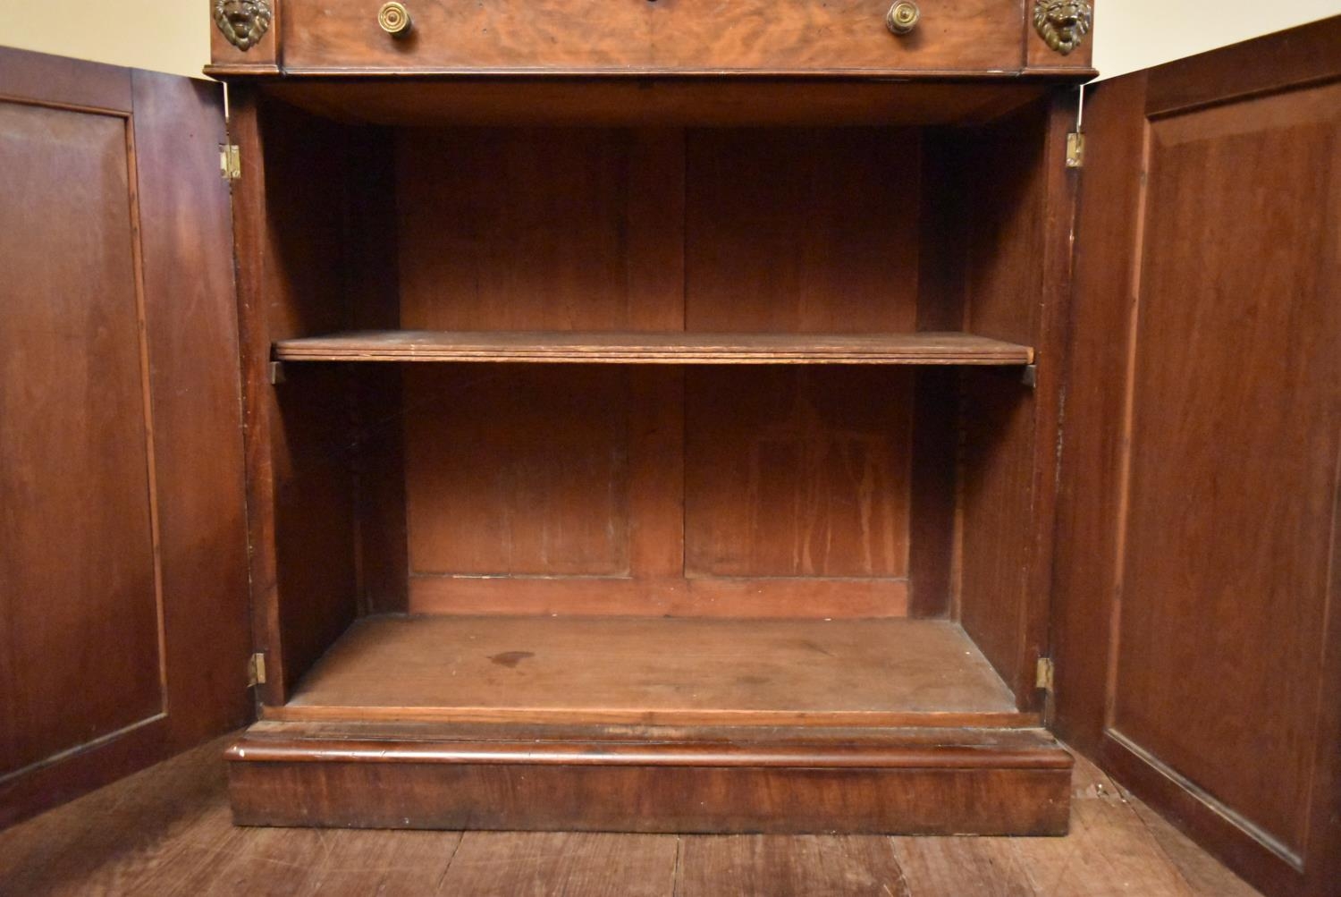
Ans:
{"label": "cream wall showing behind the cabinet at both top corners", "polygon": [[[921,0],[928,17],[936,3]],[[1113,76],[1338,15],[1341,0],[1096,0],[1096,8],[1094,64]],[[197,76],[209,60],[208,0],[0,0],[0,43],[25,50]]]}

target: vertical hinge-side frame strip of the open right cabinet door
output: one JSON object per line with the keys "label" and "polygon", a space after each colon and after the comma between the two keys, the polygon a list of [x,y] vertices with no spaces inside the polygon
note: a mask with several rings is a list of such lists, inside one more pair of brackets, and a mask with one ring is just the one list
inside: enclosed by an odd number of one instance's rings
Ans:
{"label": "vertical hinge-side frame strip of the open right cabinet door", "polygon": [[[1089,98],[1088,133],[1094,156],[1085,172],[1077,216],[1075,290],[1071,353],[1067,359],[1066,421],[1057,512],[1053,575],[1057,731],[1077,750],[1097,756],[1104,737],[1108,695],[1105,599],[1117,569],[1122,445],[1109,434],[1125,413],[1130,316],[1136,263],[1129,247],[1140,217],[1145,145],[1145,75],[1106,82]],[[1102,585],[1101,585],[1102,583]]]}

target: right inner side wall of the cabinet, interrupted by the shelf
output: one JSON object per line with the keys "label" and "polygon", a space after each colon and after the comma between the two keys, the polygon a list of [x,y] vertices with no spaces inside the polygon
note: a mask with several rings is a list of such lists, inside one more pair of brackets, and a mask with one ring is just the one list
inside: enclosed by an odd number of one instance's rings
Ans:
{"label": "right inner side wall of the cabinet, interrupted by the shelf", "polygon": [[1058,95],[980,134],[961,157],[974,213],[964,245],[967,328],[1035,349],[1015,370],[963,375],[960,594],[964,629],[1025,707],[1047,652],[1057,425],[1065,361],[1074,98]]}

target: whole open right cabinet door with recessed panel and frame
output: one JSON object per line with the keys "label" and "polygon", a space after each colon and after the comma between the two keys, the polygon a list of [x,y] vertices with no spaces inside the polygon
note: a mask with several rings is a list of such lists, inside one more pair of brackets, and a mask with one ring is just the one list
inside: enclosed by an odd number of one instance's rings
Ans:
{"label": "whole open right cabinet door with recessed panel and frame", "polygon": [[1094,86],[1057,727],[1271,894],[1341,893],[1341,19]]}

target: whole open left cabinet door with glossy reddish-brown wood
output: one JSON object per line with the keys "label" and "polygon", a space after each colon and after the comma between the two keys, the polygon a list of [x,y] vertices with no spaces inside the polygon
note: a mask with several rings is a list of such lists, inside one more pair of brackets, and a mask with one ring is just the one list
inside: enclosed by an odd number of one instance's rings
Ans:
{"label": "whole open left cabinet door with glossy reddish-brown wood", "polygon": [[247,721],[219,84],[0,48],[0,826]]}

